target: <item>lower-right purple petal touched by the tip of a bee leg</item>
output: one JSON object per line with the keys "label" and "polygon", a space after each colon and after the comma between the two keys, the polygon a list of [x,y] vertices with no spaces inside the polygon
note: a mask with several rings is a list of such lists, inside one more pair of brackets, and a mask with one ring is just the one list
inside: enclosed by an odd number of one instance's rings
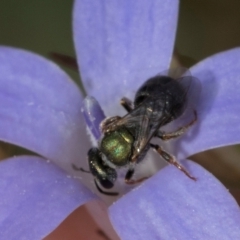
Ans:
{"label": "lower-right purple petal touched by the tip of a bee leg", "polygon": [[196,182],[168,166],[110,207],[121,239],[239,238],[240,211],[228,190],[199,165],[186,167]]}

